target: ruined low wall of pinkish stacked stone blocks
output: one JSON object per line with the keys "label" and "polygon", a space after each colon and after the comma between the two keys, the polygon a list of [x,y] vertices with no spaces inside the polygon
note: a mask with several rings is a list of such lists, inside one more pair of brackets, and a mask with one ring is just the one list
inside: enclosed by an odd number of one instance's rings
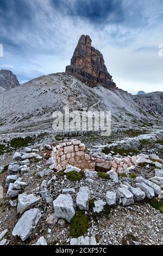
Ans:
{"label": "ruined low wall of pinkish stacked stone blocks", "polygon": [[52,157],[55,161],[57,172],[65,169],[68,165],[82,170],[95,170],[95,158],[85,153],[85,145],[80,141],[62,142],[53,149]]}

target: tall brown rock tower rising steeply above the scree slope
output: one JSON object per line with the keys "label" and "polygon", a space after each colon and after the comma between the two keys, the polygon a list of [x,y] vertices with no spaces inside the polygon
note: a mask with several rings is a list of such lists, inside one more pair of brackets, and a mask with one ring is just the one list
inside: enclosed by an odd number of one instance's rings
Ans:
{"label": "tall brown rock tower rising steeply above the scree slope", "polygon": [[89,35],[80,37],[71,65],[66,66],[66,73],[91,87],[102,84],[107,88],[115,88],[116,84],[106,69],[102,53],[92,47],[91,42]]}

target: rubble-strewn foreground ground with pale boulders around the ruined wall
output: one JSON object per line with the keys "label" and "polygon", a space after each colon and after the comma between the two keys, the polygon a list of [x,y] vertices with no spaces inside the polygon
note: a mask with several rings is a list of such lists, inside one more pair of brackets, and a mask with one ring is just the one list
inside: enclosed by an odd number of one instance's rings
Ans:
{"label": "rubble-strewn foreground ground with pale boulders around the ruined wall", "polygon": [[[122,134],[123,143],[121,133],[110,143],[98,136],[93,141],[93,135],[61,142],[59,136],[33,138],[17,148],[5,142],[0,155],[0,244],[162,245],[162,133],[129,135]],[[77,139],[86,145],[86,154],[109,161],[108,170],[70,164],[57,172],[51,157],[56,144]]]}

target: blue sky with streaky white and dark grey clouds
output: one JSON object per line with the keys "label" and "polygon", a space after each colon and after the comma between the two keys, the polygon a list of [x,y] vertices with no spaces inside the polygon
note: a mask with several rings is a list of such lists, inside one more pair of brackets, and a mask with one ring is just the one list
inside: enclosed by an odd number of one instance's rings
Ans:
{"label": "blue sky with streaky white and dark grey clouds", "polygon": [[162,0],[1,0],[0,69],[21,83],[65,71],[82,34],[119,88],[162,91]]}

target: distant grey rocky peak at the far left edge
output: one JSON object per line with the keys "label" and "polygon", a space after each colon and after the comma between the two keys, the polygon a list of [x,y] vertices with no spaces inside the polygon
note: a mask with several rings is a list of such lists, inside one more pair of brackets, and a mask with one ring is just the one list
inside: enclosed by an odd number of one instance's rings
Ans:
{"label": "distant grey rocky peak at the far left edge", "polygon": [[20,86],[16,75],[10,70],[0,70],[0,93],[10,90],[16,86]]}

